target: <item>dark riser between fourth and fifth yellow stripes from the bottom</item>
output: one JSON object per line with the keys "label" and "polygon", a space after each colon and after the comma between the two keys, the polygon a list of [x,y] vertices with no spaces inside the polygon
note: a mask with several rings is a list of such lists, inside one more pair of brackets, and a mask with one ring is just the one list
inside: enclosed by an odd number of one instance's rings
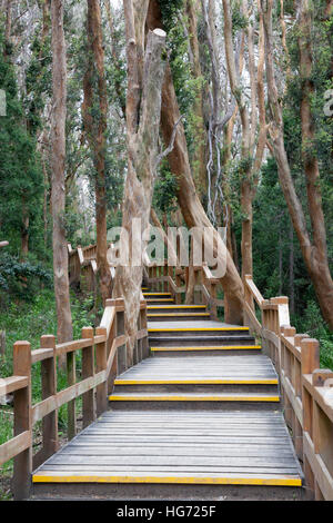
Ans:
{"label": "dark riser between fourth and fifth yellow stripes from the bottom", "polygon": [[[180,342],[181,337],[181,342]],[[193,347],[193,346],[205,346],[209,347],[211,345],[214,346],[223,346],[223,345],[256,345],[254,337],[252,336],[240,336],[240,335],[224,335],[224,336],[216,336],[211,335],[206,336],[205,334],[198,333],[198,335],[183,335],[180,336],[178,333],[150,333],[149,334],[149,345],[150,347]]]}

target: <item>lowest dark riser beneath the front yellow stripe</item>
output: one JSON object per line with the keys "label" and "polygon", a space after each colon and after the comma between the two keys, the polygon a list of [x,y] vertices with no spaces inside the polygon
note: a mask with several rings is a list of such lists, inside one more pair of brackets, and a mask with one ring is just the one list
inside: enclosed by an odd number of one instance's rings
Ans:
{"label": "lowest dark riser beneath the front yellow stripe", "polygon": [[[212,501],[302,501],[305,490],[292,486],[183,485],[140,483],[34,484],[38,500],[212,500]],[[163,510],[159,506],[158,510]]]}

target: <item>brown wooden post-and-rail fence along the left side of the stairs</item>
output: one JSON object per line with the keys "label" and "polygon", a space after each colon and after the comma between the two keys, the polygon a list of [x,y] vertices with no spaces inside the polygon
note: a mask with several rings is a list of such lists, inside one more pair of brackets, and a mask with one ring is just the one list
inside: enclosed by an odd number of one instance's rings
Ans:
{"label": "brown wooden post-and-rail fence along the left side of the stairs", "polygon": [[[82,351],[81,379],[77,381],[75,354]],[[57,359],[65,355],[67,387],[58,391]],[[13,375],[0,379],[0,396],[13,393],[13,437],[0,445],[0,465],[13,457],[14,499],[29,496],[31,473],[59,448],[58,409],[68,405],[68,438],[77,434],[75,399],[82,396],[82,426],[107,409],[108,393],[115,376],[128,368],[123,299],[109,299],[100,326],[82,329],[81,338],[57,344],[54,336],[42,336],[40,348],[29,342],[13,346]],[[147,303],[141,300],[133,363],[149,355]],[[42,399],[32,404],[32,366],[41,364]],[[33,427],[42,423],[42,447],[33,455]]]}

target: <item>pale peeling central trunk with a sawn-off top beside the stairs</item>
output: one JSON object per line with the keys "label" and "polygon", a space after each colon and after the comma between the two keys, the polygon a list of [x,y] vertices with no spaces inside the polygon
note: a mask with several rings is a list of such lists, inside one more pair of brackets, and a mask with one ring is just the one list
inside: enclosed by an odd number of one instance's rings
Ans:
{"label": "pale peeling central trunk with a sawn-off top beside the stairs", "polygon": [[[128,363],[133,361],[142,284],[142,253],[148,243],[151,200],[159,157],[161,90],[165,68],[165,32],[154,29],[144,38],[149,0],[124,0],[127,33],[128,175],[123,199],[120,251],[128,265],[117,268],[113,297],[123,297]],[[137,225],[137,226],[135,226]],[[132,227],[133,226],[133,227]]]}

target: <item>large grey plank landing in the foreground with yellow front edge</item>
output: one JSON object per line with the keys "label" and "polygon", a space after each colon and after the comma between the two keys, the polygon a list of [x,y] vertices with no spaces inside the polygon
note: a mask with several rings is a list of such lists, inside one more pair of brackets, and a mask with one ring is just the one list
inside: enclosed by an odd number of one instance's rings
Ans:
{"label": "large grey plank landing in the foreground with yellow front edge", "polygon": [[108,412],[33,474],[34,483],[301,485],[279,412]]}

